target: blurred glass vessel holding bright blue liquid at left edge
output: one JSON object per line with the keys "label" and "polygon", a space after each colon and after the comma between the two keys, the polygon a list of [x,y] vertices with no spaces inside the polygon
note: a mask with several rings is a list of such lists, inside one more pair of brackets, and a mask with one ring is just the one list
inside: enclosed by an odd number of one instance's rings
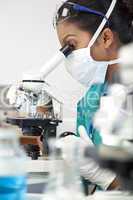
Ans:
{"label": "blurred glass vessel holding bright blue liquid at left edge", "polygon": [[26,155],[19,145],[17,130],[5,123],[4,113],[9,109],[5,105],[0,109],[0,199],[25,200]]}

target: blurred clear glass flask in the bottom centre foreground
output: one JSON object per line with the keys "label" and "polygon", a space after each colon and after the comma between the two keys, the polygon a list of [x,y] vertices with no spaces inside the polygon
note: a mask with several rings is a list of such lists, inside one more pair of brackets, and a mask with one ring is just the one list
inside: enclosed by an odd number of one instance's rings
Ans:
{"label": "blurred clear glass flask in the bottom centre foreground", "polygon": [[85,198],[78,170],[78,145],[78,138],[70,138],[68,143],[63,139],[52,141],[50,157],[53,166],[44,191],[44,199],[82,200]]}

